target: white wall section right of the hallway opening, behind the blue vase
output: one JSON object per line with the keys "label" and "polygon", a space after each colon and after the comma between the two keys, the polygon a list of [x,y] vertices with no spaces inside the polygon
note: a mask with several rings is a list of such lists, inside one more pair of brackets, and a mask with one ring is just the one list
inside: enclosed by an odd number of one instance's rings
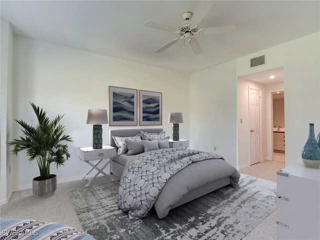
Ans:
{"label": "white wall section right of the hallway opening, behind the blue vase", "polygon": [[301,159],[309,123],[320,130],[319,32],[284,45],[285,164]]}

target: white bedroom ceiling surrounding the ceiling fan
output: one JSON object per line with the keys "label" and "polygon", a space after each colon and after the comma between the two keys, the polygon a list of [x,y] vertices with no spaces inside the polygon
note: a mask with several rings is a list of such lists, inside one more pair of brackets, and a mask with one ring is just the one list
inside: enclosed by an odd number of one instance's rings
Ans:
{"label": "white bedroom ceiling surrounding the ceiling fan", "polygon": [[235,32],[196,35],[203,49],[199,55],[194,55],[188,44],[183,47],[183,40],[154,53],[178,35],[144,27],[144,22],[177,27],[184,21],[182,13],[194,12],[197,3],[1,0],[0,7],[14,34],[185,73],[320,30],[319,0],[215,0],[199,28],[237,24]]}

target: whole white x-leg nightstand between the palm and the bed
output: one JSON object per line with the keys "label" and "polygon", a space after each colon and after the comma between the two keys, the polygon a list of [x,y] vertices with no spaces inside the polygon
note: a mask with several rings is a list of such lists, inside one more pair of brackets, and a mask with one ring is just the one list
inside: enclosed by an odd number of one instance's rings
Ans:
{"label": "whole white x-leg nightstand between the palm and the bed", "polygon": [[[85,186],[90,185],[90,183],[97,177],[99,173],[102,173],[106,177],[109,177],[103,169],[110,163],[110,158],[116,156],[116,150],[115,147],[104,145],[102,148],[94,149],[92,146],[89,147],[80,147],[78,151],[78,155],[80,160],[84,161],[85,163],[89,164],[91,166],[91,169],[85,173],[85,175],[81,178],[88,179],[89,181],[85,184]],[[102,167],[98,167],[98,164],[103,160],[107,159],[105,164]],[[98,160],[95,164],[93,164],[90,161]],[[97,170],[97,173],[92,177],[88,177],[88,174],[93,170]]]}

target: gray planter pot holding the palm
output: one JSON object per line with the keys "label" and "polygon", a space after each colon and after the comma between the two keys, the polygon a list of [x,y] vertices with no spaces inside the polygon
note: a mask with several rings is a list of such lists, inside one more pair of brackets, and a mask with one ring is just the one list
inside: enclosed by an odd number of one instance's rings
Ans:
{"label": "gray planter pot holding the palm", "polygon": [[40,179],[39,176],[32,180],[32,193],[34,196],[46,196],[56,190],[56,175],[50,174],[50,178]]}

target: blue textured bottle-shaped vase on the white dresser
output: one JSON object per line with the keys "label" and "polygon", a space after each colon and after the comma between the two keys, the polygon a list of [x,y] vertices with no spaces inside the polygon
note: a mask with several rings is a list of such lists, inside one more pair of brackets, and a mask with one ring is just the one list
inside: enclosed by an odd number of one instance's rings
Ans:
{"label": "blue textured bottle-shaped vase on the white dresser", "polygon": [[318,168],[320,166],[320,148],[314,137],[313,123],[309,123],[309,135],[303,146],[301,157],[306,167]]}

